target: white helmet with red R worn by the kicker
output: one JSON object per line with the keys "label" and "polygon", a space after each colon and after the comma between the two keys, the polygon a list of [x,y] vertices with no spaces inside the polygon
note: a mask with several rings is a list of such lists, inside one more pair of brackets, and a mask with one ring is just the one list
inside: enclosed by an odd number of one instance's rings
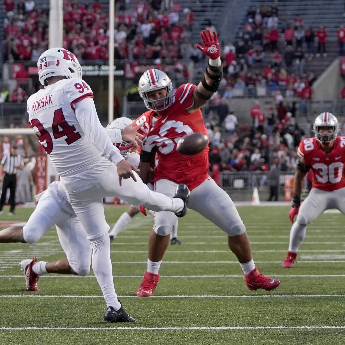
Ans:
{"label": "white helmet with red R worn by the kicker", "polygon": [[41,54],[37,61],[38,80],[46,87],[45,80],[54,76],[81,78],[82,68],[76,56],[63,48],[51,48]]}

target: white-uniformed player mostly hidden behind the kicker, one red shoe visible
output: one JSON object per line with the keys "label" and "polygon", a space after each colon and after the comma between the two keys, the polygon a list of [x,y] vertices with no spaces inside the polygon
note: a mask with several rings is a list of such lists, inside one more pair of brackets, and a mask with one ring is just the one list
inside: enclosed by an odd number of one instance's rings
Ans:
{"label": "white-uniformed player mostly hidden behind the kicker, one red shoe visible", "polygon": [[[136,127],[128,118],[120,118],[118,128],[106,129],[111,141],[117,144],[121,153],[134,144],[125,139],[134,138]],[[125,122],[128,126],[125,126]],[[123,136],[121,136],[121,131]],[[138,137],[140,140],[140,136]],[[127,154],[129,160],[136,167],[139,164],[138,154]],[[36,258],[24,259],[20,263],[26,278],[28,291],[40,291],[37,286],[39,276],[46,273],[77,274],[85,276],[90,272],[91,244],[71,204],[66,191],[62,189],[60,181],[54,181],[42,193],[35,196],[38,201],[27,223],[23,226],[11,226],[0,231],[0,243],[21,242],[36,243],[47,231],[56,226],[60,244],[67,258],[54,262],[36,262]],[[29,270],[29,272],[28,272]],[[28,272],[28,274],[27,274]]]}

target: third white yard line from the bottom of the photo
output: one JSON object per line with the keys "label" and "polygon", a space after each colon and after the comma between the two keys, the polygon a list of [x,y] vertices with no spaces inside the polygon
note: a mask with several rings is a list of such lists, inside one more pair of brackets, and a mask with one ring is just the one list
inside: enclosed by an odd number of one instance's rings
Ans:
{"label": "third white yard line from the bottom of the photo", "polygon": [[[52,273],[53,274],[53,273]],[[290,274],[290,275],[284,275],[284,274],[270,274],[274,277],[288,277],[288,278],[319,278],[319,277],[336,277],[336,278],[343,278],[345,277],[345,274],[322,274],[322,275],[298,275],[298,274]],[[23,278],[23,275],[0,275],[0,278]],[[74,274],[71,275],[62,275],[62,274],[56,274],[56,275],[49,275],[45,274],[40,276],[40,278],[95,278],[96,276],[93,275],[87,275],[85,277],[77,276]],[[142,278],[142,275],[140,276],[113,276],[114,278]],[[243,274],[241,275],[193,275],[193,276],[162,276],[161,278],[243,278]]]}

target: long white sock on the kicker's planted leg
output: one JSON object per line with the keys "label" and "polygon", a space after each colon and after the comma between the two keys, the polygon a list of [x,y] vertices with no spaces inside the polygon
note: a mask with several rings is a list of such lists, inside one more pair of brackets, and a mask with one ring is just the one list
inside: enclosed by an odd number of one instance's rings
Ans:
{"label": "long white sock on the kicker's planted leg", "polygon": [[107,307],[112,306],[116,310],[121,308],[117,299],[112,278],[112,267],[110,260],[110,239],[106,233],[100,237],[90,240],[92,245],[92,269],[97,282],[102,290]]}

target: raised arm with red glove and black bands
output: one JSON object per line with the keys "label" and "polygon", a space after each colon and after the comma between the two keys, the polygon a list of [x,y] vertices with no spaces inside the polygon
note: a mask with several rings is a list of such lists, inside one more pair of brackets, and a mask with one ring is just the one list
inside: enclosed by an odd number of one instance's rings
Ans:
{"label": "raised arm with red glove and black bands", "polygon": [[[217,33],[211,34],[210,30],[203,30],[200,33],[203,46],[196,45],[203,54],[210,59],[205,70],[205,76],[197,85],[193,93],[194,105],[188,110],[192,112],[204,105],[218,90],[219,83],[223,77],[223,64],[220,61],[220,48]],[[191,111],[192,110],[192,111]]]}

